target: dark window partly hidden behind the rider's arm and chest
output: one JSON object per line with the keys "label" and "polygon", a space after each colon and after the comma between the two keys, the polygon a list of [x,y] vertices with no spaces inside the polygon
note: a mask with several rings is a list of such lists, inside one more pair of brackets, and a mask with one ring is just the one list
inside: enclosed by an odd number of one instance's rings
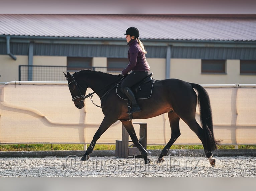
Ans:
{"label": "dark window partly hidden behind the rider's arm and chest", "polygon": [[127,58],[108,58],[108,72],[121,72],[129,64]]}

